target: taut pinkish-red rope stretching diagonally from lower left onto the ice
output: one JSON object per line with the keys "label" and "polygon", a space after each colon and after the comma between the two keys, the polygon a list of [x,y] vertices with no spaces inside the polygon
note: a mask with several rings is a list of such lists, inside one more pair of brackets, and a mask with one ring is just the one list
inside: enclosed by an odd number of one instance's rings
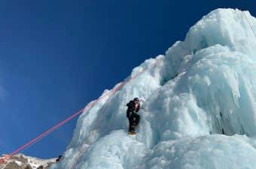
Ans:
{"label": "taut pinkish-red rope stretching diagonally from lower left onto the ice", "polygon": [[[163,58],[162,58],[163,59]],[[157,65],[158,62],[162,59],[157,59],[157,61],[154,63],[154,65]],[[23,146],[20,146],[18,149],[16,149],[14,152],[11,152],[11,154],[0,158],[0,164],[11,158],[12,156],[16,155],[17,153],[21,152],[23,149],[26,149],[28,146],[31,146],[32,144],[38,142],[38,140],[41,140],[43,137],[47,136],[47,134],[50,134],[52,131],[56,130],[56,128],[59,128],[60,126],[66,124],[66,122],[69,122],[71,119],[74,119],[75,116],[78,116],[79,114],[83,113],[85,110],[89,109],[90,107],[93,107],[96,103],[101,101],[103,98],[107,97],[108,95],[114,94],[117,92],[119,89],[121,89],[126,83],[129,83],[131,80],[135,79],[136,77],[139,77],[139,75],[143,74],[145,71],[147,71],[149,68],[152,68],[154,65],[149,66],[145,70],[139,72],[133,77],[130,77],[128,80],[123,81],[120,83],[118,86],[116,86],[114,89],[106,93],[105,95],[102,95],[95,101],[91,101],[89,104],[87,104],[86,107],[83,109],[79,110],[78,112],[72,114],[72,116],[69,116],[67,119],[64,119],[62,122],[59,122],[58,124],[54,125],[52,128],[49,128],[47,131],[44,131],[42,134],[39,134],[37,137],[34,139],[30,140],[28,143],[24,144]]]}

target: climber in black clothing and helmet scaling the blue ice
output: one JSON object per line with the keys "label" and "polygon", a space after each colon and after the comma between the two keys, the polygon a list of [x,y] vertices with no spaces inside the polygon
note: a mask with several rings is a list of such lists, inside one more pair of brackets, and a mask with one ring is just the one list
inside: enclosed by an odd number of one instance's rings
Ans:
{"label": "climber in black clothing and helmet scaling the blue ice", "polygon": [[135,127],[139,125],[140,116],[138,114],[140,108],[139,98],[134,98],[132,101],[126,104],[128,107],[126,110],[126,117],[129,119],[129,131],[128,134],[136,134]]}

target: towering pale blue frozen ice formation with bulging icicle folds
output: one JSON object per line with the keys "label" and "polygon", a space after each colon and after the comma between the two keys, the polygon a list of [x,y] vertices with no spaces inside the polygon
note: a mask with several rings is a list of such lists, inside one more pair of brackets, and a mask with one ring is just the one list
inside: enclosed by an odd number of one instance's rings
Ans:
{"label": "towering pale blue frozen ice formation with bulging icicle folds", "polygon": [[[253,29],[248,11],[218,9],[203,17],[184,41],[130,77],[147,69],[143,74],[86,110],[51,169],[256,168]],[[145,99],[145,110],[130,136],[126,103],[135,97]]]}

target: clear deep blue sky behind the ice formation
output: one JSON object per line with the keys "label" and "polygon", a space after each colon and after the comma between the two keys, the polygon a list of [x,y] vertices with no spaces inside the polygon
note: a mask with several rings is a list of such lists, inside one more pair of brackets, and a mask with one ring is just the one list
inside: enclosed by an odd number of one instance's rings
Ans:
{"label": "clear deep blue sky behind the ice formation", "polygon": [[[145,59],[164,54],[216,8],[256,16],[249,0],[2,0],[0,153],[14,151],[80,110]],[[62,154],[75,122],[23,153]]]}

